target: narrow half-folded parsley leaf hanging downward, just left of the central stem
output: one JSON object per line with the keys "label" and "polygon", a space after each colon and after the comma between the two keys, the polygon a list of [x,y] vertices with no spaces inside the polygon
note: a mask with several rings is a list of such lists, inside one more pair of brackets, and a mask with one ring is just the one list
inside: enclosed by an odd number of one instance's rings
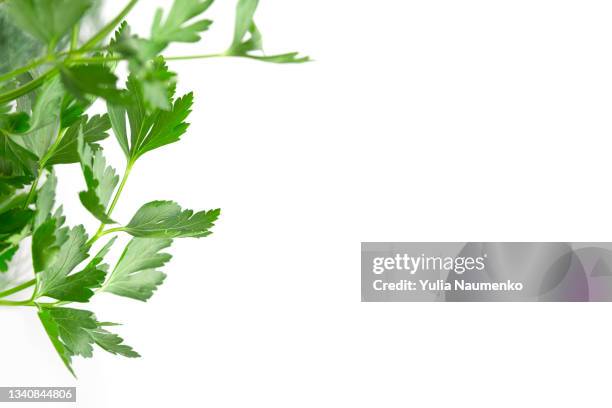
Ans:
{"label": "narrow half-folded parsley leaf hanging downward, just left of the central stem", "polygon": [[87,184],[87,191],[79,193],[81,203],[101,222],[114,224],[115,221],[106,215],[106,207],[119,183],[119,176],[112,167],[106,166],[102,149],[98,148],[94,152],[85,143],[82,134],[78,138],[78,150],[81,158],[81,168]]}

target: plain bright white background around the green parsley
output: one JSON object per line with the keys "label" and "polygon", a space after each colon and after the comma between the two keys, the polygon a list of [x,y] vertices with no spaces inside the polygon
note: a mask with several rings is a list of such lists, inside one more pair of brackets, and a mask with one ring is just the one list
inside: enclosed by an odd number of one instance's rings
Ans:
{"label": "plain bright white background around the green parsley", "polygon": [[[141,2],[137,31],[162,3]],[[223,210],[147,304],[91,305],[144,358],[99,351],[75,381],[33,310],[2,310],[0,383],[76,385],[79,407],[609,406],[609,304],[360,303],[359,251],[610,241],[612,4],[261,3],[268,52],[316,62],[173,63],[192,127],[116,211]],[[168,54],[223,49],[232,13],[218,1],[205,41]],[[78,168],[59,175],[69,221],[94,228]]]}

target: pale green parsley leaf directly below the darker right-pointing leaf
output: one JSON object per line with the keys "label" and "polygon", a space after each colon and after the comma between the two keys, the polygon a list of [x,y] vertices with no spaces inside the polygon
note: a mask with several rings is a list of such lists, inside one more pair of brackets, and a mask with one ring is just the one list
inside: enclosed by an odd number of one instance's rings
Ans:
{"label": "pale green parsley leaf directly below the darker right-pointing leaf", "polygon": [[166,274],[156,268],[164,266],[172,258],[160,252],[171,244],[170,239],[132,239],[103,290],[136,300],[148,300],[166,278]]}

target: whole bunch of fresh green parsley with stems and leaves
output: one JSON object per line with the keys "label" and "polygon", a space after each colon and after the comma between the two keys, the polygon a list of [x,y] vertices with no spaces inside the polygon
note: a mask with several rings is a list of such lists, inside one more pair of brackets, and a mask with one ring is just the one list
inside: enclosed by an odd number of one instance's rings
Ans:
{"label": "whole bunch of fresh green parsley with stems and leaves", "polygon": [[[166,277],[160,268],[171,258],[164,251],[172,240],[210,235],[220,214],[153,201],[127,223],[113,216],[138,161],[179,141],[188,129],[193,94],[176,95],[177,75],[167,61],[225,56],[308,61],[293,52],[263,54],[253,21],[258,0],[238,1],[226,51],[164,57],[172,43],[200,40],[212,24],[202,14],[213,0],[174,0],[169,10],[157,10],[149,37],[133,34],[125,22],[136,3],[127,2],[84,38],[81,28],[91,29],[90,21],[99,20],[96,0],[0,0],[0,274],[25,245],[31,245],[33,269],[33,279],[0,292],[0,306],[35,308],[73,375],[73,357],[91,357],[94,345],[125,357],[139,354],[112,332],[115,323],[67,305],[87,303],[102,292],[148,300]],[[119,64],[129,72],[125,87],[115,74]],[[106,113],[88,114],[99,99]],[[121,177],[100,144],[110,133],[125,154]],[[80,202],[100,223],[91,235],[83,225],[66,225],[56,203],[53,168],[70,164],[83,174]],[[111,268],[105,257],[120,233],[133,238]],[[32,291],[27,299],[7,300],[26,289]]]}

